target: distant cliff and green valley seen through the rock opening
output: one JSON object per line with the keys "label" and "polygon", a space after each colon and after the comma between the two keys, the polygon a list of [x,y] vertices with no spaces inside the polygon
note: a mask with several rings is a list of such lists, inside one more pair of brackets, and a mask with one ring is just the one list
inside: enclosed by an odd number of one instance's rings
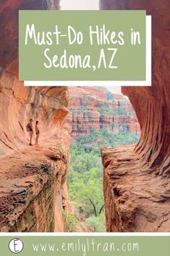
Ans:
{"label": "distant cliff and green valley seen through the rock opening", "polygon": [[[76,231],[103,232],[106,220],[101,148],[136,144],[140,125],[132,105],[119,88],[109,91],[104,86],[69,87],[69,112],[72,122],[69,214],[77,216]],[[116,197],[121,194],[119,188],[113,191]]]}

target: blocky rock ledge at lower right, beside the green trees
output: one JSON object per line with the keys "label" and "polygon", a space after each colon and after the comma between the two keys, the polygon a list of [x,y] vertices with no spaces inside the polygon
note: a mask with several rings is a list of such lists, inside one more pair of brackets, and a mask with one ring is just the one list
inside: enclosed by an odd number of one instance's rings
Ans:
{"label": "blocky rock ledge at lower right, beside the green trees", "polygon": [[102,150],[107,231],[169,231],[168,181],[143,165],[134,149]]}

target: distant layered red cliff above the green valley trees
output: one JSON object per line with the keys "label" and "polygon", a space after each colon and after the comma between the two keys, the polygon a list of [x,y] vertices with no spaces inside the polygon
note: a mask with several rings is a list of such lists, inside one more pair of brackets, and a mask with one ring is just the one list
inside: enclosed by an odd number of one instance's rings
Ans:
{"label": "distant layered red cliff above the green valley trees", "polygon": [[[72,120],[72,138],[86,136],[92,128],[100,130],[101,128],[119,133],[122,128],[140,135],[140,125],[137,122],[132,105],[122,95],[113,94],[115,101],[109,102],[107,94],[110,93],[106,88],[95,87],[75,87],[69,88],[69,110]],[[111,94],[111,93],[110,93]],[[98,107],[106,105],[108,110],[117,110],[121,106],[127,110],[127,116],[101,114]]]}

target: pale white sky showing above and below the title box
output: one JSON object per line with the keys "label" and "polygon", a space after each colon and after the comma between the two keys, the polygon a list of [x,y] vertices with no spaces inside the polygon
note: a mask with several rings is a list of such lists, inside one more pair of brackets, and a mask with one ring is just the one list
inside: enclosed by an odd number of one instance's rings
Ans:
{"label": "pale white sky showing above and below the title box", "polygon": [[[65,9],[65,10],[99,9],[99,0],[61,0],[61,9]],[[114,94],[121,94],[120,86],[118,87],[105,86],[105,87]]]}

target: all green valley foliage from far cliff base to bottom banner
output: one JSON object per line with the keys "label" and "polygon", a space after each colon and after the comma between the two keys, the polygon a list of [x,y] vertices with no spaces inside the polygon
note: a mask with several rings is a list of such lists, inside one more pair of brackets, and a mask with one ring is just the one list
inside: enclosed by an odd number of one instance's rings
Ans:
{"label": "all green valley foliage from far cliff base to bottom banner", "polygon": [[71,144],[69,198],[75,203],[77,215],[81,215],[82,221],[79,220],[79,224],[84,227],[83,230],[85,225],[94,232],[106,230],[101,147],[134,144],[137,141],[135,133],[122,131],[115,134],[104,129],[92,129],[89,136],[80,136],[77,142]]}

